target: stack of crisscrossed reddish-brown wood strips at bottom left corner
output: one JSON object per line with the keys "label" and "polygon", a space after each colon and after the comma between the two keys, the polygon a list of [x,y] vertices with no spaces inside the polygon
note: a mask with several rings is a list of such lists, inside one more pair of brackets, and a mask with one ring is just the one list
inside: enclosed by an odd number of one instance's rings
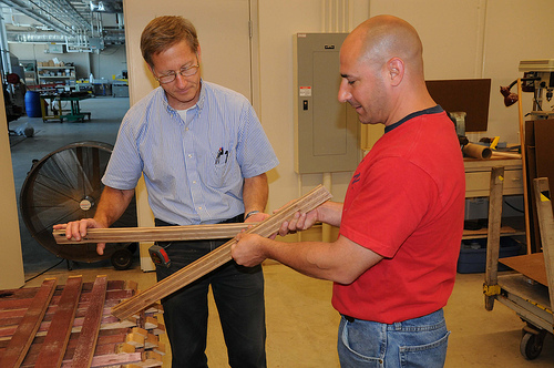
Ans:
{"label": "stack of crisscrossed reddish-brown wood strips at bottom left corner", "polygon": [[111,308],[136,293],[133,282],[55,278],[0,292],[0,367],[160,367],[165,333],[154,306],[120,320]]}

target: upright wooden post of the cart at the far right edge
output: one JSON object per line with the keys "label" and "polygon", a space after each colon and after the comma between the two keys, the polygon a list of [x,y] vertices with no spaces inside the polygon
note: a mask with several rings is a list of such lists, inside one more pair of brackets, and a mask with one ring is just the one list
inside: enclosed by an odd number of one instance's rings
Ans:
{"label": "upright wooden post of the cart at the far right edge", "polygon": [[[551,191],[548,178],[538,177],[534,181],[538,229],[544,253],[546,286],[550,289],[551,308],[554,307],[554,218],[552,215]],[[554,326],[553,326],[554,327]],[[551,329],[551,333],[553,329]]]}

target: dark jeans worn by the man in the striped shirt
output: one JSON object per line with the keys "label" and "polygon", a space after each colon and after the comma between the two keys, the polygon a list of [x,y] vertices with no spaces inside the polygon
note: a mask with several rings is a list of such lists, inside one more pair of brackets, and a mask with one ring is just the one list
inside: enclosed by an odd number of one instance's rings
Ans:
{"label": "dark jeans worn by the man in the striped shirt", "polygon": [[[156,266],[161,280],[226,241],[174,242],[165,251],[171,267]],[[166,246],[167,244],[160,244]],[[230,367],[266,367],[264,274],[261,266],[242,267],[234,260],[162,300],[172,367],[207,367],[206,337],[209,285],[219,313]]]}

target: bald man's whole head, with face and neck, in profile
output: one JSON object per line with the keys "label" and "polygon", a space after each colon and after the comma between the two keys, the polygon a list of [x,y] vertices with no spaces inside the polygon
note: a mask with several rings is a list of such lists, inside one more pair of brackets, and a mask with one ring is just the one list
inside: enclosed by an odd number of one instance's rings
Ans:
{"label": "bald man's whole head, with face and neck, in profile", "polygon": [[339,101],[350,103],[362,123],[386,125],[437,105],[427,90],[422,52],[410,23],[391,16],[368,19],[340,48]]}

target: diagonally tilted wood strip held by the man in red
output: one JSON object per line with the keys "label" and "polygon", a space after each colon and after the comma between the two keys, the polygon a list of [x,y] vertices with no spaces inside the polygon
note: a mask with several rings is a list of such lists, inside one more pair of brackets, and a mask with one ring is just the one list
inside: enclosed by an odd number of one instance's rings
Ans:
{"label": "diagonally tilted wood strip held by the man in red", "polygon": [[[319,185],[308,194],[291,202],[261,223],[248,228],[246,233],[254,233],[268,237],[276,233],[283,222],[290,219],[295,213],[311,211],[328,201],[330,197],[330,193],[324,186]],[[179,288],[222,266],[232,259],[230,246],[235,243],[236,241],[234,238],[230,239],[204,257],[154,284],[146,290],[120,303],[112,308],[112,314],[120,319],[126,319],[133,314],[136,314],[163,297],[178,290]]]}

